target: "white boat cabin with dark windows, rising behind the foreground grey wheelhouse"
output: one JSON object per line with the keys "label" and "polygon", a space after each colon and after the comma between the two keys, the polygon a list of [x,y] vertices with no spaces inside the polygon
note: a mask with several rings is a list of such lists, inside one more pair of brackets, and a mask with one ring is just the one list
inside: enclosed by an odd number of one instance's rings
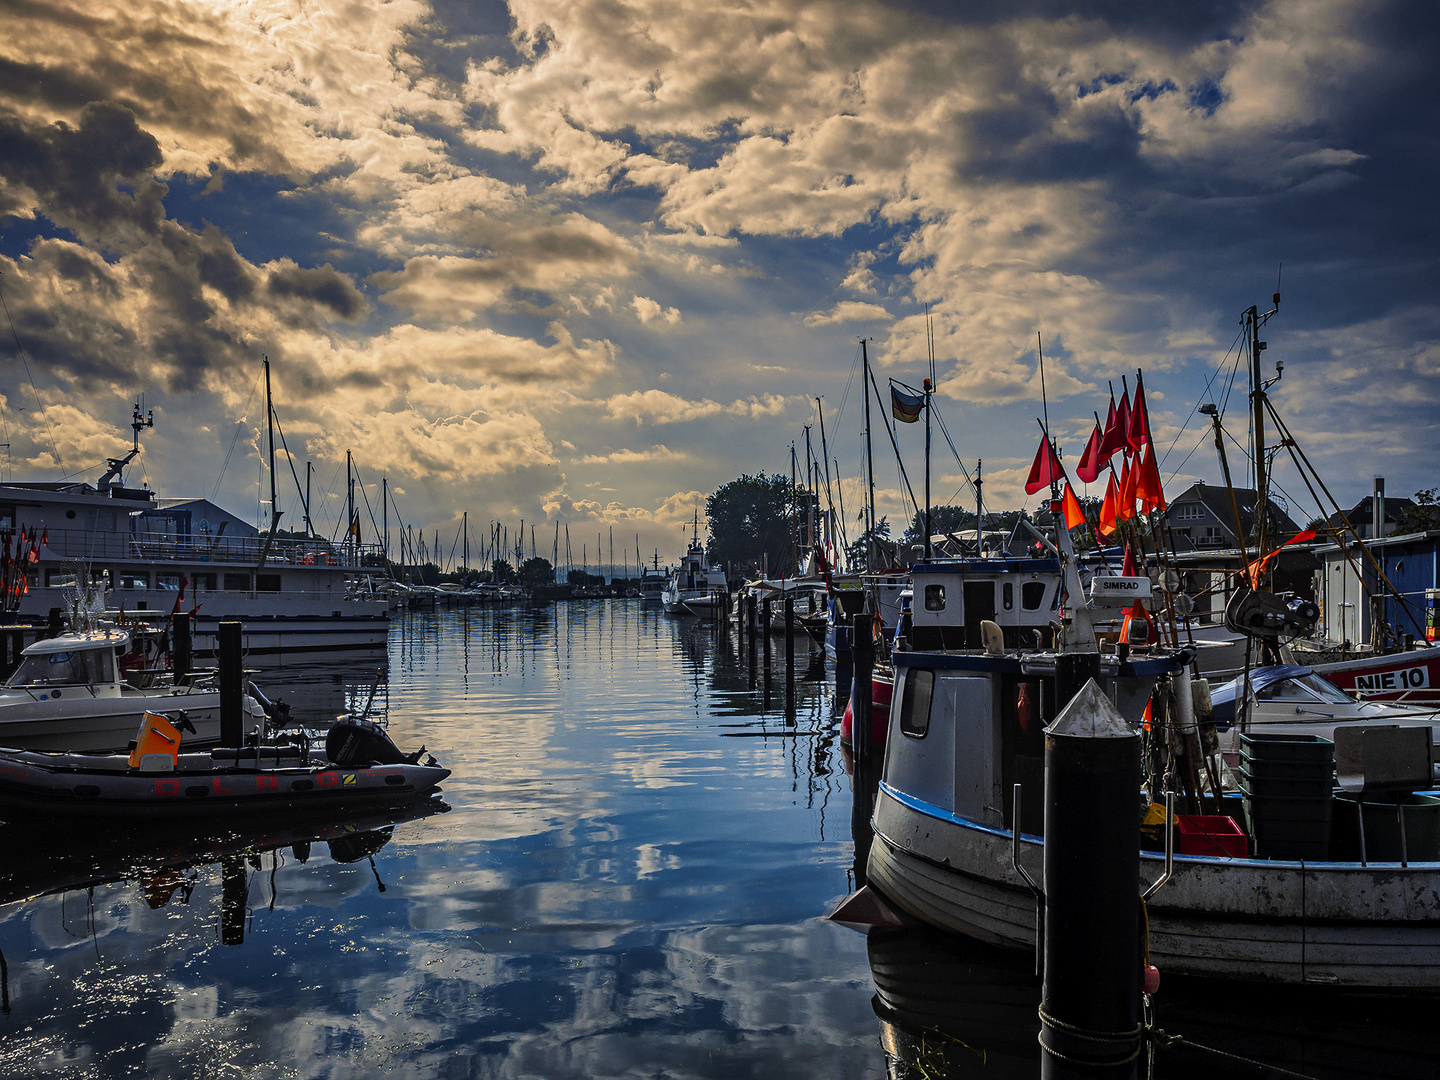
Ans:
{"label": "white boat cabin with dark windows, rising behind the foreground grey wheelhouse", "polygon": [[981,624],[1001,628],[1007,648],[1048,648],[1060,609],[1058,559],[946,559],[910,569],[909,647],[979,649]]}

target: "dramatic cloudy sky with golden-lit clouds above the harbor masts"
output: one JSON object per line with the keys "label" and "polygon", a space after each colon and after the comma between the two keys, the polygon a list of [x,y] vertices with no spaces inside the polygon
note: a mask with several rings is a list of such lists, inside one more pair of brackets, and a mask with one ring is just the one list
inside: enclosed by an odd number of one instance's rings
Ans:
{"label": "dramatic cloudy sky with golden-lit clouds above the harbor masts", "polygon": [[1220,481],[1202,402],[1243,471],[1279,287],[1335,498],[1431,488],[1436,56],[1428,0],[6,0],[0,475],[94,480],[143,399],[128,482],[265,524],[268,357],[284,526],[310,462],[338,528],[350,451],[442,554],[468,513],[672,562],[822,409],[852,537],[860,340],[884,392],[933,337],[936,503],[981,461],[1034,504],[1037,418],[1073,465],[1139,369],[1178,494]]}

